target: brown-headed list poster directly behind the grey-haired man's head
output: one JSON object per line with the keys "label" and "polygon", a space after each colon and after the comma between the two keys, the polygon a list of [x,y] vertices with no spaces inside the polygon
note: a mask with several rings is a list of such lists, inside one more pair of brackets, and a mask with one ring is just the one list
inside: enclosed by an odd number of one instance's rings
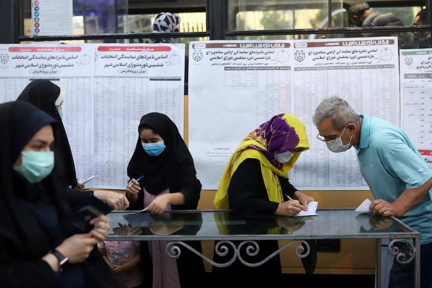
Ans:
{"label": "brown-headed list poster directly behind the grey-haired man's head", "polygon": [[354,147],[333,153],[316,138],[316,107],[328,96],[357,113],[399,126],[397,38],[297,40],[293,44],[293,110],[306,126],[310,149],[299,157],[290,182],[301,190],[369,190]]}

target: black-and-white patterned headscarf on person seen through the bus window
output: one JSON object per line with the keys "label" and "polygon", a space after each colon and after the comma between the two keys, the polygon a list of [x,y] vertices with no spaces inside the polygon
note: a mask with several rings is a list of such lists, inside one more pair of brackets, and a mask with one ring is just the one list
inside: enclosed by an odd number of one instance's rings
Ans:
{"label": "black-and-white patterned headscarf on person seen through the bus window", "polygon": [[[180,17],[174,13],[162,12],[153,23],[152,33],[180,32]],[[180,43],[181,38],[159,38],[151,39],[153,43]]]}

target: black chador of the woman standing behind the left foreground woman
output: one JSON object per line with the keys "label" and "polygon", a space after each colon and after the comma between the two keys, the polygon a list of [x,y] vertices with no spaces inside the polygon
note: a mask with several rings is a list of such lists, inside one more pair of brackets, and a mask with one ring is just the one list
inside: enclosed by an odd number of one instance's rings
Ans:
{"label": "black chador of the woman standing behind the left foreground woman", "polygon": [[63,186],[75,187],[77,185],[77,175],[74,159],[65,127],[55,104],[59,94],[60,87],[49,80],[38,79],[26,86],[17,98],[17,101],[32,103],[57,120],[58,129],[54,132],[54,154],[56,161],[54,171],[58,171],[58,177],[60,177]]}

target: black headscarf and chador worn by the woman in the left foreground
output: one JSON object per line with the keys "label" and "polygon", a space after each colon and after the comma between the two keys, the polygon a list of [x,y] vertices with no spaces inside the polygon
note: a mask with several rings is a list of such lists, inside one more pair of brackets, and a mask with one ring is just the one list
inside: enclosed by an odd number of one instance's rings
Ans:
{"label": "black headscarf and chador worn by the woman in the left foreground", "polygon": [[[70,214],[71,208],[58,190],[53,173],[32,184],[13,170],[29,140],[49,124],[55,134],[56,121],[30,103],[0,104],[0,279],[5,287],[45,287],[47,283],[55,288],[63,286],[42,256],[67,237],[51,227]],[[47,214],[47,208],[52,212]],[[54,217],[47,220],[44,215]],[[79,265],[89,288],[126,288],[98,249]]]}

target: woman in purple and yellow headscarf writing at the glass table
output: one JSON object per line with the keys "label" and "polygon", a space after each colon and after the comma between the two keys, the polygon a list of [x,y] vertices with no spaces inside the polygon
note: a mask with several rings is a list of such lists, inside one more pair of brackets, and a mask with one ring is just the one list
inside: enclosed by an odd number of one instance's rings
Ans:
{"label": "woman in purple and yellow headscarf writing at the glass table", "polygon": [[[305,127],[297,117],[272,117],[249,133],[231,156],[214,207],[244,216],[295,216],[307,210],[314,198],[291,185],[288,170],[308,149]],[[298,201],[287,201],[286,195]]]}

